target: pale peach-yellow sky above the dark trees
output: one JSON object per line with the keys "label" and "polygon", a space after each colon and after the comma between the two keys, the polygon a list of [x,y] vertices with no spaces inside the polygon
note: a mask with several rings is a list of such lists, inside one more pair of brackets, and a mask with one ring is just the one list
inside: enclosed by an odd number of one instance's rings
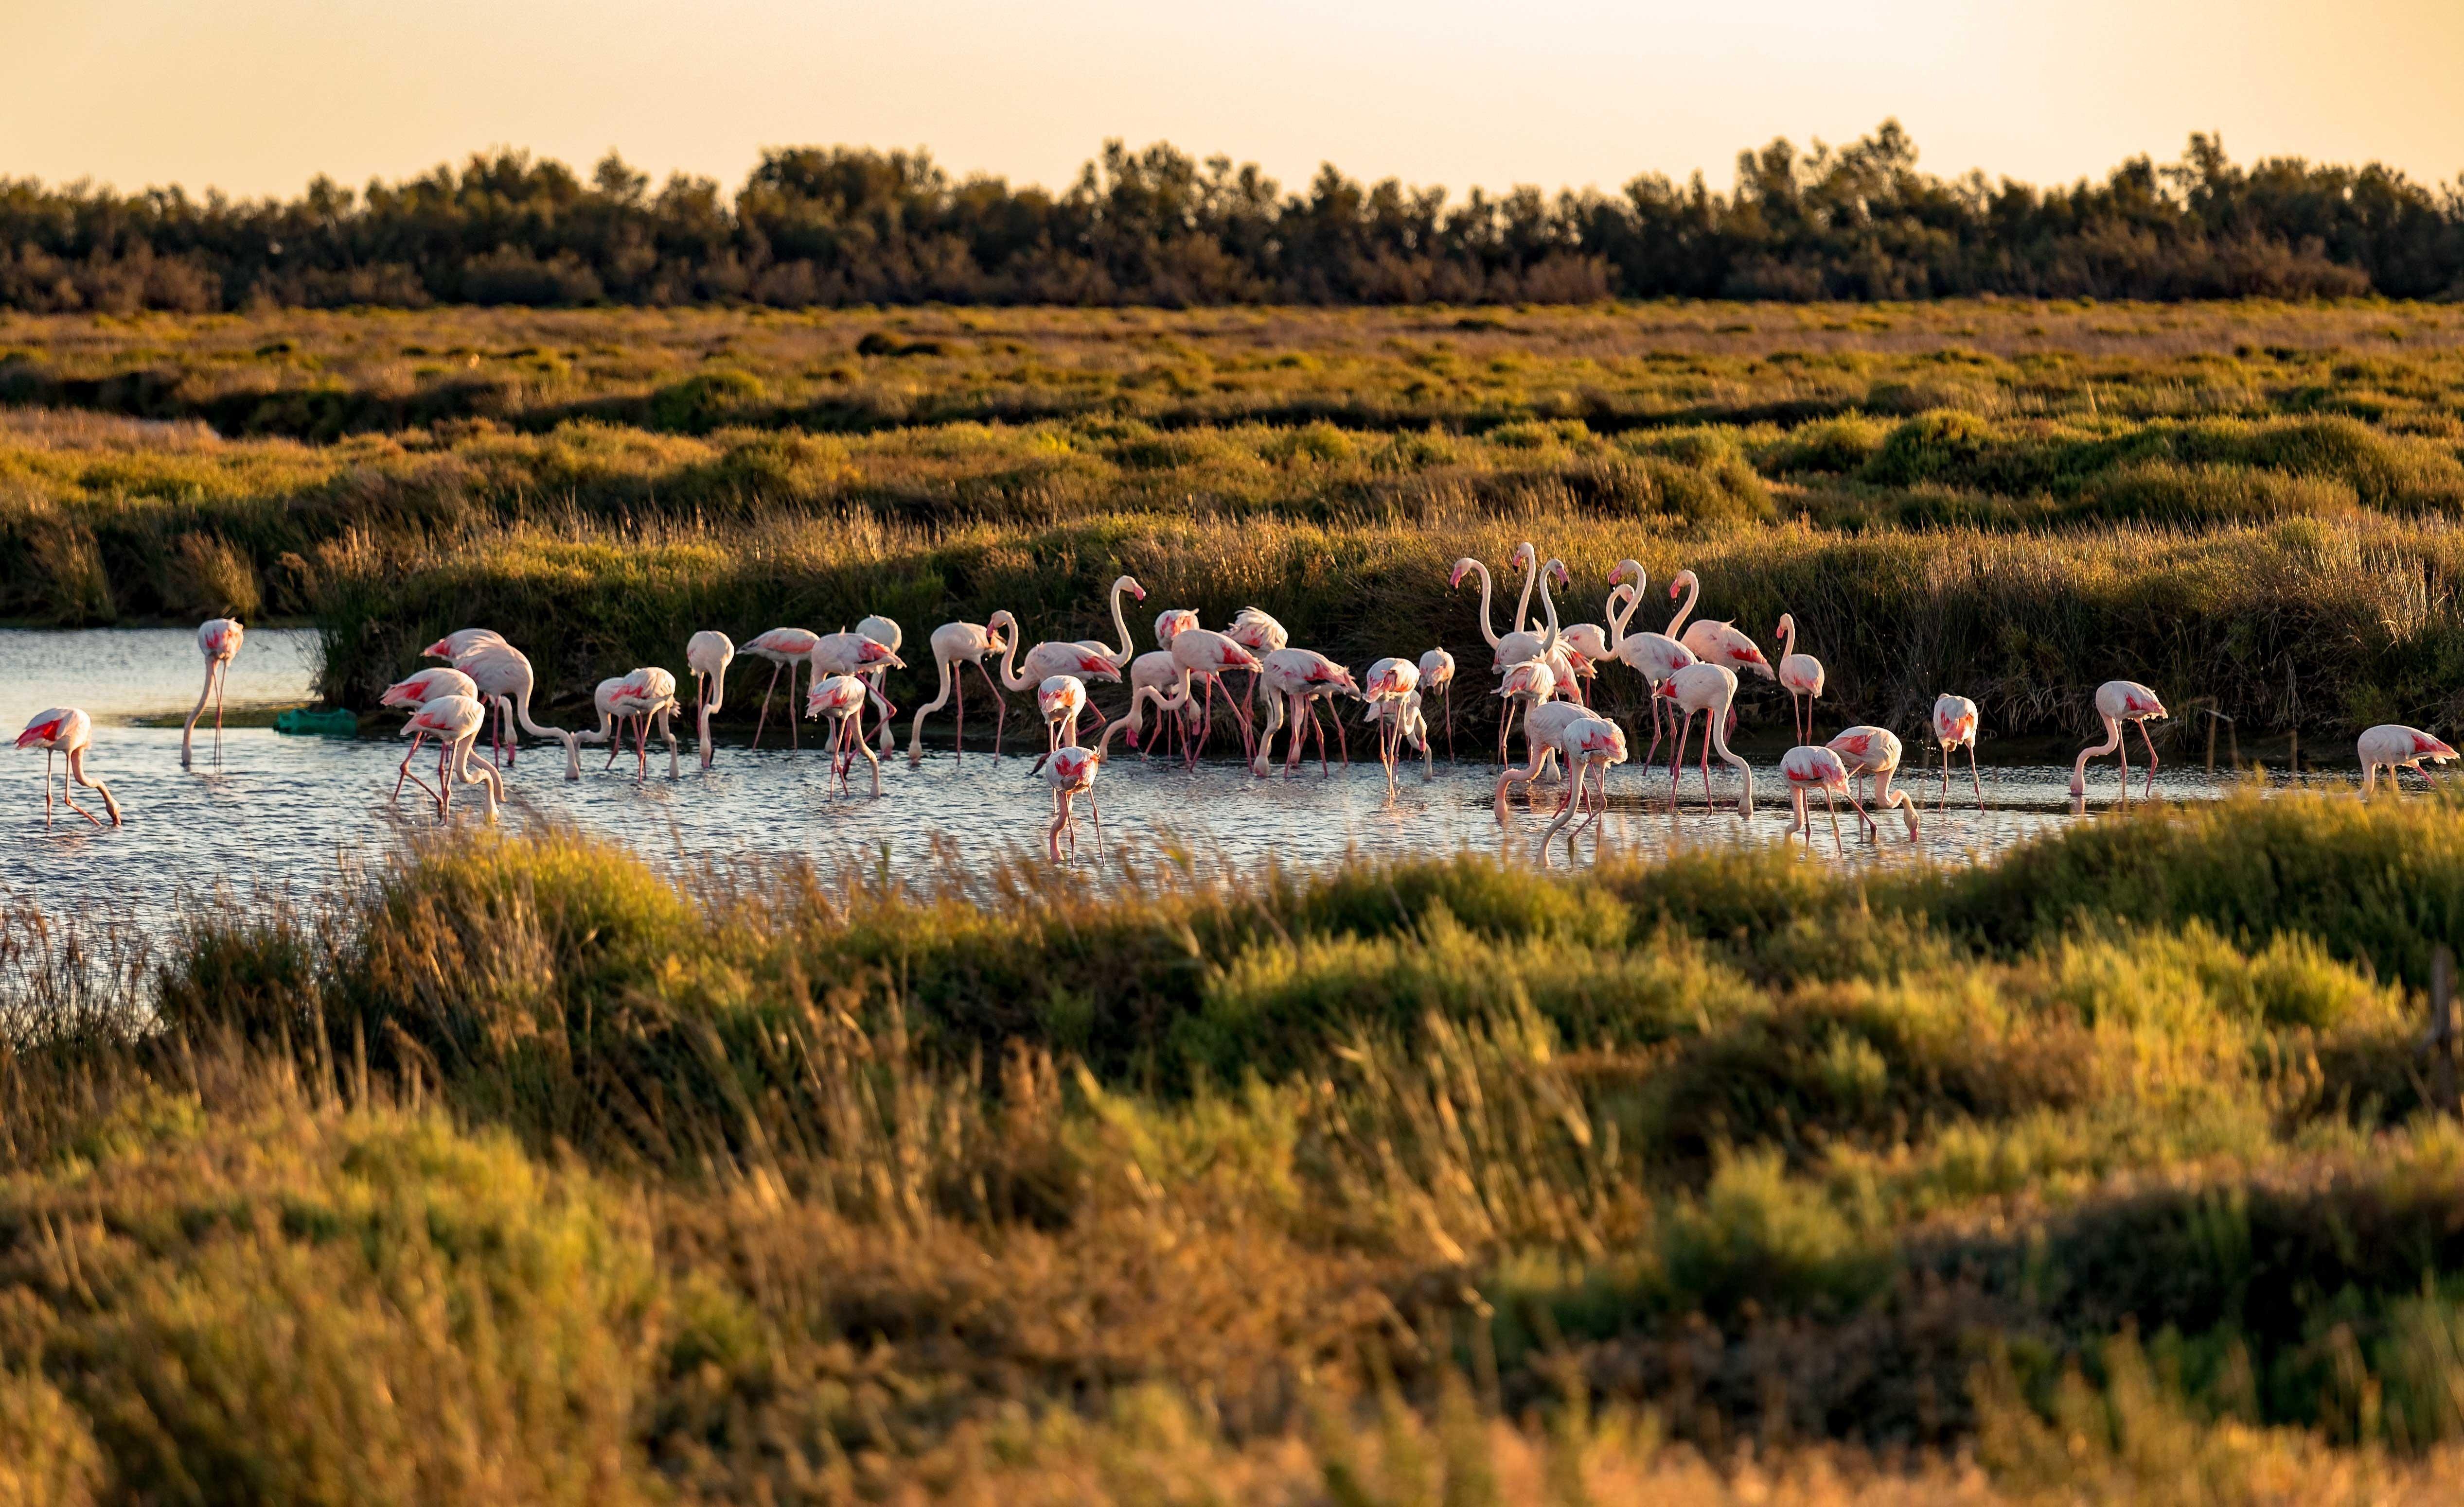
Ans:
{"label": "pale peach-yellow sky above the dark trees", "polygon": [[1064,185],[1106,135],[1355,177],[1727,185],[1897,116],[1924,167],[2464,172],[2459,0],[0,0],[0,177],[293,195],[490,145],[742,182],[764,145],[926,145]]}

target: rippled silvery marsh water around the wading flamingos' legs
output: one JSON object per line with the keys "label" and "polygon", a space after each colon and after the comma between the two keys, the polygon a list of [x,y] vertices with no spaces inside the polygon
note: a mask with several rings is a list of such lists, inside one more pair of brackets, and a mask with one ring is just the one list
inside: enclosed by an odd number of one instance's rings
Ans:
{"label": "rippled silvery marsh water around the wading flamingos' legs", "polygon": [[[256,712],[301,704],[315,677],[315,635],[308,630],[254,630],[232,667],[227,707]],[[0,630],[0,721],[7,731],[42,707],[76,704],[96,719],[91,771],[111,783],[126,827],[96,830],[54,810],[42,818],[42,768],[34,751],[7,749],[0,766],[0,891],[64,914],[103,906],[143,923],[160,923],[192,899],[229,886],[237,904],[266,889],[313,891],[350,869],[382,862],[416,832],[436,830],[434,805],[407,788],[392,798],[402,744],[392,739],[286,736],[266,726],[232,726],[219,746],[212,714],[197,736],[192,768],[180,768],[177,719],[197,699],[202,660],[190,630]],[[892,697],[902,689],[892,682]],[[909,697],[912,704],[912,697]],[[981,704],[978,704],[981,712]],[[140,719],[170,717],[170,726]],[[973,721],[973,719],[971,719]],[[907,719],[899,719],[904,749]],[[986,867],[1040,854],[1050,795],[1030,778],[1030,754],[1042,744],[1032,712],[1010,714],[1013,749],[1005,758],[949,751],[949,721],[926,724],[926,758],[909,768],[904,754],[882,763],[882,795],[870,795],[862,766],[855,795],[833,790],[828,758],[813,749],[806,724],[801,754],[779,741],[779,721],[764,749],[742,734],[722,739],[717,766],[700,771],[690,739],[683,776],[668,778],[668,758],[653,744],[650,778],[636,781],[633,756],[606,768],[604,749],[584,749],[584,776],[564,778],[554,744],[522,749],[508,778],[500,822],[572,822],[623,840],[653,859],[705,859],[737,854],[808,854],[825,864],[860,862],[892,869],[929,869],[956,862]],[[1104,850],[1175,847],[1232,864],[1323,864],[1345,854],[1488,852],[1535,862],[1555,788],[1542,788],[1538,808],[1515,798],[1501,830],[1491,793],[1496,768],[1437,761],[1437,778],[1407,766],[1390,798],[1370,741],[1355,729],[1350,768],[1318,773],[1316,761],[1299,776],[1254,778],[1237,758],[1185,771],[1165,758],[1121,756],[1104,768],[1096,795]],[[1225,746],[1217,734],[1217,746]],[[1232,744],[1237,749],[1237,744]],[[1641,749],[1636,749],[1641,754]],[[1666,749],[1663,749],[1666,758]],[[434,766],[429,766],[434,768]],[[2092,778],[2089,813],[2114,800],[2112,763]],[[1880,840],[1858,842],[1855,822],[1841,810],[1846,857],[1816,808],[1818,842],[1806,862],[1892,864],[1912,859],[1971,862],[1988,857],[2050,825],[2080,820],[2067,798],[2067,766],[1986,766],[1984,810],[1976,810],[1961,771],[1954,800],[1937,815],[1927,803],[1922,837],[1907,840],[1897,820]],[[2136,761],[2134,761],[2136,773]],[[1937,786],[1907,778],[1915,790]],[[2136,786],[2136,781],[2134,781]],[[1786,842],[1789,803],[1777,768],[1759,766],[1752,820],[1735,815],[1732,771],[1712,763],[1712,790],[1725,808],[1705,810],[1700,778],[1688,771],[1685,800],[1671,815],[1668,776],[1621,766],[1609,781],[1609,815],[1587,837],[1574,862],[1597,852],[1668,852],[1685,845]],[[2198,768],[2166,768],[2156,795],[2208,798],[2220,783]],[[463,790],[453,827],[485,822],[478,790]],[[1079,862],[1096,864],[1094,830],[1082,825]],[[1552,862],[1567,864],[1565,845]]]}

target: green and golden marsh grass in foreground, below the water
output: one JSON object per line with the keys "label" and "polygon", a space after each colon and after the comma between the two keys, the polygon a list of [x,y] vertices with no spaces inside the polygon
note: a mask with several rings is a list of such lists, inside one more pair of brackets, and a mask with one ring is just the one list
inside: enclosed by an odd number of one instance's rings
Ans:
{"label": "green and golden marsh grass in foreground, below the water", "polygon": [[0,1502],[2452,1495],[2459,840],[7,914]]}

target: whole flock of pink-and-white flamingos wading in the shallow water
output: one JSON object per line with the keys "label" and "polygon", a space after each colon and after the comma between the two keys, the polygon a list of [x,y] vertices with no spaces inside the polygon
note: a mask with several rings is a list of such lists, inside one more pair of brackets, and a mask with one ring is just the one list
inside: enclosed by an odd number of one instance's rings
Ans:
{"label": "whole flock of pink-and-white flamingos wading in the shallow water", "polygon": [[[1501,766],[1496,786],[1498,822],[1506,822],[1506,795],[1513,786],[1530,788],[1547,778],[1555,766],[1565,768],[1565,790],[1540,835],[1542,854],[1550,840],[1567,830],[1567,822],[1574,822],[1567,832],[1572,852],[1574,837],[1607,810],[1609,768],[1629,758],[1624,726],[1599,714],[1592,704],[1592,682],[1611,662],[1634,670],[1651,687],[1651,749],[1643,754],[1643,761],[1651,763],[1661,741],[1671,741],[1671,805],[1678,800],[1685,746],[1693,736],[1693,721],[1700,717],[1703,741],[1698,766],[1705,805],[1717,805],[1710,786],[1710,758],[1717,754],[1722,763],[1737,768],[1742,776],[1737,815],[1752,818],[1754,768],[1727,746],[1727,734],[1737,724],[1740,675],[1759,675],[1789,694],[1794,731],[1801,739],[1779,761],[1779,778],[1786,783],[1791,800],[1789,832],[1801,835],[1811,847],[1811,798],[1818,793],[1831,818],[1831,842],[1841,852],[1846,852],[1836,803],[1841,795],[1855,810],[1860,835],[1880,835],[1875,810],[1900,810],[1907,820],[1910,840],[1917,837],[1917,803],[1907,790],[1892,788],[1902,758],[1897,734],[1885,726],[1860,724],[1843,729],[1828,741],[1814,741],[1816,702],[1823,694],[1823,665],[1814,655],[1799,653],[1796,621],[1791,616],[1779,618],[1774,638],[1781,645],[1781,655],[1774,665],[1735,623],[1693,618],[1703,591],[1693,571],[1678,571],[1668,584],[1668,598],[1678,601],[1683,596],[1683,601],[1666,630],[1629,633],[1629,623],[1643,601],[1643,566],[1639,561],[1626,559],[1609,571],[1604,625],[1562,625],[1557,621],[1557,603],[1550,586],[1572,584],[1562,559],[1540,561],[1540,552],[1533,544],[1520,544],[1513,552],[1510,566],[1523,569],[1523,596],[1506,633],[1498,633],[1493,623],[1493,584],[1486,564],[1459,559],[1446,584],[1449,589],[1461,589],[1471,576],[1481,581],[1481,635],[1491,648],[1488,670],[1496,677],[1491,694],[1501,699],[1496,749]],[[1540,618],[1530,616],[1535,591],[1540,596]],[[1158,746],[1170,741],[1173,754],[1195,768],[1215,729],[1217,694],[1239,729],[1249,768],[1262,778],[1271,773],[1276,734],[1286,734],[1286,773],[1299,768],[1311,734],[1318,739],[1318,768],[1326,771],[1326,721],[1333,721],[1348,763],[1350,739],[1343,731],[1340,699],[1365,702],[1363,721],[1377,729],[1377,758],[1385,766],[1390,790],[1395,788],[1407,749],[1422,758],[1424,776],[1434,778],[1437,754],[1424,704],[1427,697],[1444,697],[1451,712],[1456,665],[1454,655],[1444,648],[1432,648],[1417,660],[1400,655],[1377,660],[1368,667],[1365,677],[1355,680],[1333,657],[1291,648],[1284,625],[1259,608],[1242,608],[1222,630],[1202,628],[1198,613],[1188,608],[1165,608],[1156,616],[1158,648],[1136,653],[1129,618],[1121,608],[1124,596],[1146,601],[1146,589],[1131,576],[1111,584],[1111,625],[1119,645],[1084,638],[1045,640],[1020,650],[1018,618],[1008,611],[993,613],[986,623],[944,623],[934,628],[931,655],[939,687],[931,702],[914,709],[907,734],[909,763],[919,763],[924,756],[924,719],[944,707],[951,712],[954,739],[963,758],[966,667],[973,667],[983,680],[986,694],[993,699],[995,758],[1008,731],[1008,699],[1003,692],[1035,694],[1037,714],[1045,724],[1045,754],[1035,761],[1032,773],[1042,776],[1052,793],[1052,820],[1045,827],[1045,845],[1055,859],[1062,857],[1064,842],[1072,857],[1077,852],[1077,800],[1082,795],[1101,842],[1101,810],[1094,805],[1094,781],[1111,754],[1114,739],[1126,739],[1131,749],[1138,749],[1143,739],[1148,758]],[[190,763],[190,746],[207,702],[214,704],[217,741],[222,736],[224,675],[239,655],[241,638],[244,628],[232,618],[214,618],[197,628],[197,648],[205,655],[205,687],[180,734],[182,766]],[[865,758],[872,766],[872,793],[880,795],[880,756],[894,746],[892,719],[897,717],[897,707],[885,694],[882,680],[890,670],[907,667],[899,657],[899,625],[880,616],[865,618],[853,630],[840,633],[771,628],[744,645],[717,630],[695,633],[685,643],[685,667],[695,682],[692,714],[702,768],[710,768],[715,761],[710,714],[722,707],[727,670],[737,655],[747,655],[771,665],[769,685],[761,692],[761,714],[754,721],[754,746],[761,746],[769,726],[769,707],[779,689],[779,675],[786,675],[788,707],[793,707],[796,672],[803,670],[806,719],[830,721],[828,751],[833,778],[843,790],[853,793],[855,761]],[[995,670],[988,665],[993,655],[998,655],[998,682]],[[436,803],[436,813],[446,815],[456,788],[478,786],[488,798],[488,815],[493,820],[495,805],[503,798],[500,771],[513,768],[522,731],[562,744],[567,778],[582,778],[582,744],[606,744],[609,766],[614,766],[628,734],[633,736],[636,778],[648,776],[653,736],[668,744],[668,776],[675,778],[680,773],[673,717],[683,712],[683,702],[678,699],[678,680],[668,670],[641,667],[601,680],[591,697],[599,724],[589,731],[567,731],[542,726],[532,719],[530,702],[537,677],[530,660],[505,643],[503,635],[488,628],[461,628],[431,643],[421,657],[444,660],[444,665],[394,682],[384,689],[382,699],[384,707],[409,712],[404,731],[411,736],[411,749],[397,768],[394,795],[402,793],[404,783],[416,783]],[[1247,675],[1239,692],[1225,680],[1234,672]],[[1104,714],[1094,709],[1087,682],[1124,680],[1131,692],[1129,709],[1104,726]],[[1259,707],[1257,719],[1252,719],[1252,702]],[[880,714],[872,736],[865,734],[867,707]],[[2104,724],[2104,741],[2080,751],[2070,773],[2070,793],[2085,798],[2087,761],[2104,754],[2119,756],[2122,793],[2129,793],[2129,749],[2124,744],[2124,726],[2129,724],[2139,726],[2139,739],[2146,746],[2146,793],[2154,793],[2156,744],[2146,724],[2166,717],[2163,699],[2139,682],[2109,680],[2097,687],[2094,707]],[[1079,741],[1079,724],[1089,714],[1096,719],[1099,734],[1089,729],[1094,734],[1092,741]],[[1510,758],[1510,736],[1518,721],[1525,746],[1520,766]],[[1444,717],[1444,724],[1451,758],[1451,714]],[[1976,790],[1979,810],[1984,808],[1984,783],[1976,776],[1976,702],[1956,694],[1944,694],[1934,702],[1929,746],[1942,756],[1944,805],[1951,788],[1951,754],[1964,749],[1969,756],[1969,783]],[[476,756],[480,734],[493,734],[485,761]],[[434,786],[411,771],[411,758],[416,758],[421,744],[429,739],[439,744]],[[801,744],[793,714],[788,717],[788,741],[791,746]],[[67,758],[62,798],[69,810],[101,825],[101,818],[74,798],[74,786],[84,786],[101,795],[111,825],[121,822],[121,805],[111,795],[111,788],[86,768],[91,744],[94,719],[76,707],[39,712],[17,734],[20,749],[44,749],[44,825],[52,820],[54,754]],[[2444,741],[2400,724],[2373,726],[2361,734],[2356,746],[2365,798],[2375,788],[2380,771],[2393,781],[2402,768],[2420,771],[2422,761],[2447,763],[2457,756]],[[1858,798],[1858,781],[1868,786],[1870,810],[1868,800]]]}

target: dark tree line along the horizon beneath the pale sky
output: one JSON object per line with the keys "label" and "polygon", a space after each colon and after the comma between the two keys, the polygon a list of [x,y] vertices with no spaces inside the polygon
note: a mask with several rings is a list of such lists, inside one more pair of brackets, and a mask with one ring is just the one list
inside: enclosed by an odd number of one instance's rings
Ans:
{"label": "dark tree line along the horizon beneath the pale sky", "polygon": [[2383,165],[2235,165],[2193,135],[2102,182],[1917,167],[1897,121],[1740,153],[1715,192],[1506,195],[1333,165],[1299,192],[1119,140],[1062,192],[924,150],[774,148],[744,187],[473,155],[296,199],[0,177],[0,308],[663,303],[1582,303],[1594,298],[2464,295],[2464,187]]}

